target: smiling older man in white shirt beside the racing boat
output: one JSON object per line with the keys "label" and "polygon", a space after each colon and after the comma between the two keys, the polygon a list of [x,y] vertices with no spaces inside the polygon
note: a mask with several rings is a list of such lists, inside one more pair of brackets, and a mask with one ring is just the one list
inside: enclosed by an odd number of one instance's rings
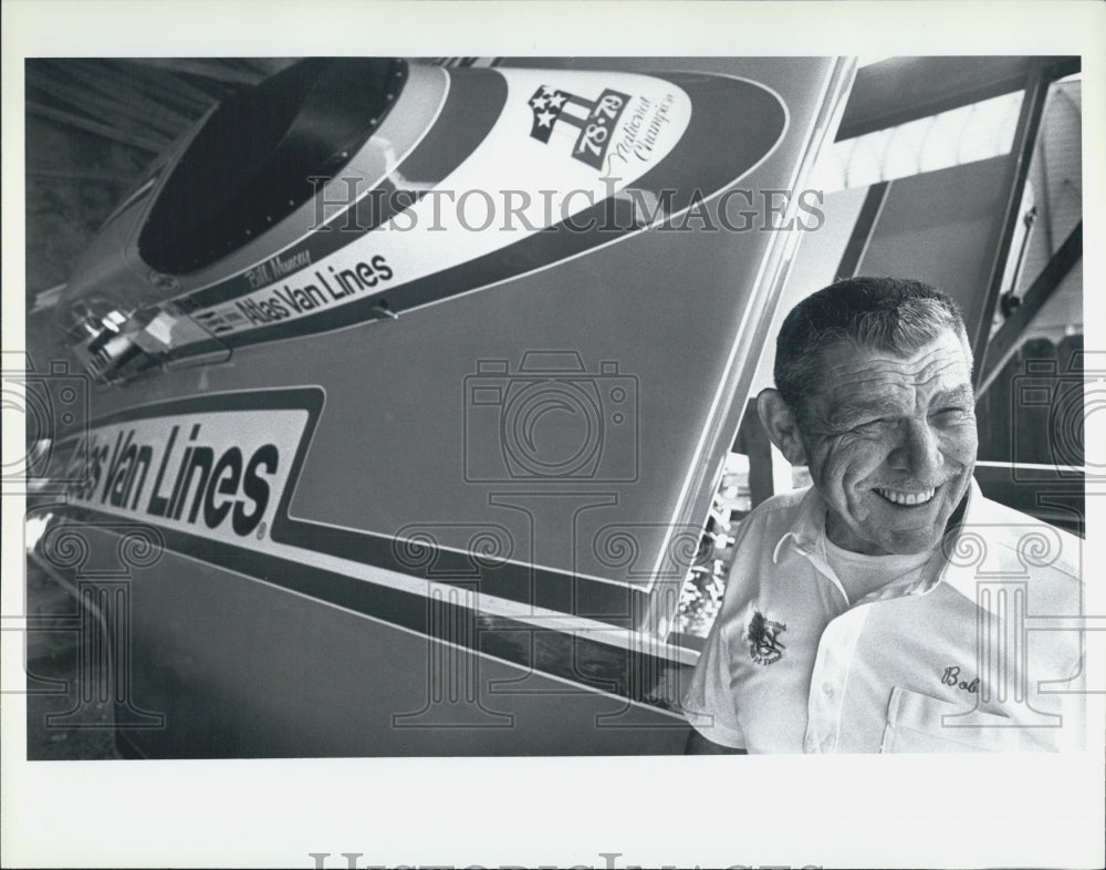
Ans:
{"label": "smiling older man in white shirt beside the racing boat", "polygon": [[742,524],[684,707],[688,752],[1077,747],[1079,541],[983,498],[963,321],[917,281],[803,300],[769,437],[814,486]]}

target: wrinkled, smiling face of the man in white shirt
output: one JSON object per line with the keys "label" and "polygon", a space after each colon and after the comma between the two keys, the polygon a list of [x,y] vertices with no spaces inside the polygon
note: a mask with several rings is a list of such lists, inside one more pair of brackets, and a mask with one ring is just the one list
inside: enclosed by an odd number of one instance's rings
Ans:
{"label": "wrinkled, smiling face of the man in white shirt", "polygon": [[951,329],[906,356],[832,345],[801,426],[837,546],[873,555],[936,547],[975,464],[971,363]]}

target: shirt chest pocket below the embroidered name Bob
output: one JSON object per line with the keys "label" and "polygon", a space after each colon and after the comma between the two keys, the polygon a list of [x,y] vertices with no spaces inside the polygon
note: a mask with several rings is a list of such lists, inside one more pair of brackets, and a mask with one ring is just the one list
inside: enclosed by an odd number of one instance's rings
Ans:
{"label": "shirt chest pocket below the embroidered name Bob", "polygon": [[[961,714],[950,722],[945,716]],[[970,714],[970,715],[963,715]],[[881,753],[1040,752],[1024,724],[902,686],[891,690]]]}

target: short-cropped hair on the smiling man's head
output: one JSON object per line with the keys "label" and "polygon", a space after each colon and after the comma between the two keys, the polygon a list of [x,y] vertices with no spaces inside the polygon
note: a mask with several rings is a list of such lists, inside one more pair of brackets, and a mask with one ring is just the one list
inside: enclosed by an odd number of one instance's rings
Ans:
{"label": "short-cropped hair on the smiling man's head", "polygon": [[921,281],[849,278],[818,290],[795,305],[775,342],[776,390],[802,421],[806,400],[818,390],[822,352],[845,342],[907,355],[952,329],[968,351],[960,309]]}

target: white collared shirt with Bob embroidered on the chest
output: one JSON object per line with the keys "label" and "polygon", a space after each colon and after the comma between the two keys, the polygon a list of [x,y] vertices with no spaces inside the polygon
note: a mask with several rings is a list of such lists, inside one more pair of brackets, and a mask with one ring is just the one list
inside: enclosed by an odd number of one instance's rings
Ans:
{"label": "white collared shirt with Bob embroidered on the chest", "polygon": [[[983,498],[919,570],[849,602],[826,505],[776,496],[742,524],[684,694],[691,725],[749,752],[1081,748],[1082,541]],[[1033,630],[1041,629],[1041,630]]]}

